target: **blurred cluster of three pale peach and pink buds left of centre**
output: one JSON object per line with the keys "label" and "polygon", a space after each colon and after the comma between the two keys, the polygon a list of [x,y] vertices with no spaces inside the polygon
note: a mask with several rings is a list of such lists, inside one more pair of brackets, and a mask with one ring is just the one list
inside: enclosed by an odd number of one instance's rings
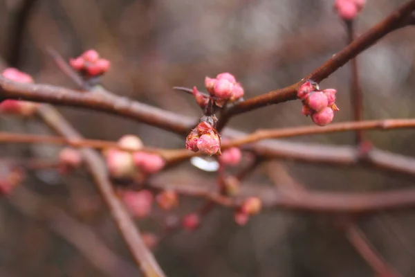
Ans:
{"label": "blurred cluster of three pale peach and pink buds left of centre", "polygon": [[109,175],[113,178],[130,179],[138,173],[154,174],[165,166],[158,154],[140,151],[142,141],[138,136],[125,135],[118,141],[125,150],[111,148],[105,152]]}

